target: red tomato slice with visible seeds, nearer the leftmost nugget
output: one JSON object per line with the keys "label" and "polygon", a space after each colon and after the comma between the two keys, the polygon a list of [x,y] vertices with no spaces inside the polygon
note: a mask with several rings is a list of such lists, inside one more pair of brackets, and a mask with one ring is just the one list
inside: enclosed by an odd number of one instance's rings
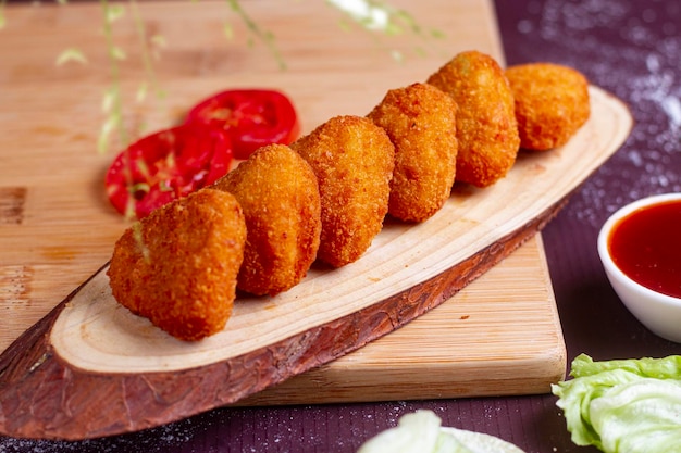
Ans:
{"label": "red tomato slice with visible seeds, nearer the leftmost nugget", "polygon": [[232,146],[218,128],[183,125],[141,138],[122,151],[106,176],[111,204],[143,218],[214,183],[230,169]]}

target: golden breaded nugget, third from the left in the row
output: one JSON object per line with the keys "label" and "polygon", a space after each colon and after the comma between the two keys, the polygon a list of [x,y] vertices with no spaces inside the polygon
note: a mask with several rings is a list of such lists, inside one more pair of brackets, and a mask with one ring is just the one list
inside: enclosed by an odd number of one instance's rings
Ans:
{"label": "golden breaded nugget, third from the left in the row", "polygon": [[318,257],[334,267],[358,260],[387,213],[395,148],[371,119],[335,116],[290,144],[310,163],[322,203]]}

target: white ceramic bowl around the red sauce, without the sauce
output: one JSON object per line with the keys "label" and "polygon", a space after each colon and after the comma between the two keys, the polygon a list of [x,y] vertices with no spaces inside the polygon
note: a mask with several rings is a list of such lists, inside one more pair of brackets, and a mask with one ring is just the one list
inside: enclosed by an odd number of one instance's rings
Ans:
{"label": "white ceramic bowl around the red sauce, without the sauce", "polygon": [[[654,334],[681,343],[681,299],[656,292],[632,280],[615,264],[608,250],[610,231],[621,218],[641,207],[679,200],[681,193],[666,193],[644,198],[621,207],[600,229],[598,254],[610,285],[627,309]],[[681,256],[679,259],[681,260]]]}

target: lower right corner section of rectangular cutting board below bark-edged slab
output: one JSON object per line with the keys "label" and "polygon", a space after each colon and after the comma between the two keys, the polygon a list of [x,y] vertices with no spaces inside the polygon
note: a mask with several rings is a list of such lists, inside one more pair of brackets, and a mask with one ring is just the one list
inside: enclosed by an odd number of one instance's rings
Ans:
{"label": "lower right corner section of rectangular cutting board below bark-edged slab", "polygon": [[565,377],[566,350],[545,263],[536,235],[407,326],[238,404],[547,392]]}

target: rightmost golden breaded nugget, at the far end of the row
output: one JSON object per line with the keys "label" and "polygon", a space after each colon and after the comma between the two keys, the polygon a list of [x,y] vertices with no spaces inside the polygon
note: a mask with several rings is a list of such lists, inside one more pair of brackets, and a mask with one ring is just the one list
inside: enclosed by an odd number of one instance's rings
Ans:
{"label": "rightmost golden breaded nugget, at the far end of the row", "polygon": [[589,81],[579,71],[529,63],[507,68],[506,77],[516,100],[521,148],[560,147],[589,119]]}

